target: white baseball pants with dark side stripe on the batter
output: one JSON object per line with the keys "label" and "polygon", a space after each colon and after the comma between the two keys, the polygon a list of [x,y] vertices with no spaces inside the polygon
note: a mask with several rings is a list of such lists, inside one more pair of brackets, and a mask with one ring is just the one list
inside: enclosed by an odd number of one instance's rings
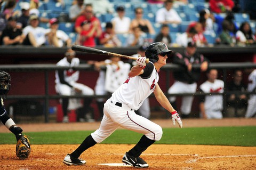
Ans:
{"label": "white baseball pants with dark side stripe on the batter", "polygon": [[99,129],[91,135],[95,142],[100,143],[111,135],[118,127],[145,134],[149,139],[159,141],[162,137],[162,127],[145,117],[135,114],[134,110],[125,104],[116,106],[116,101],[108,99],[104,104],[104,116]]}

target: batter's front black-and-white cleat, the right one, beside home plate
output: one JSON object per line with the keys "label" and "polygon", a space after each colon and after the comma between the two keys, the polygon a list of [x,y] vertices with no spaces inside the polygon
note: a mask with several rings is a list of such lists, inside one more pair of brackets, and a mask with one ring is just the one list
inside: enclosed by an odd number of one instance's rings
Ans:
{"label": "batter's front black-and-white cleat, the right one, beside home plate", "polygon": [[124,154],[123,163],[137,168],[147,168],[148,164],[140,157],[130,156],[127,152]]}

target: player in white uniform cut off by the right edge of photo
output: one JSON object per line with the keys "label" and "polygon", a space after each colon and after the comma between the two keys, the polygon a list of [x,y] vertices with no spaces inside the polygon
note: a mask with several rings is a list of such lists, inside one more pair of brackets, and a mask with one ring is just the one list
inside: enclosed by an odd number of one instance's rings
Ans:
{"label": "player in white uniform cut off by the right edge of photo", "polygon": [[[256,69],[254,69],[248,77],[249,83],[247,91],[255,92],[256,91]],[[251,118],[256,117],[256,94],[251,94],[248,100],[247,110],[245,117]]]}

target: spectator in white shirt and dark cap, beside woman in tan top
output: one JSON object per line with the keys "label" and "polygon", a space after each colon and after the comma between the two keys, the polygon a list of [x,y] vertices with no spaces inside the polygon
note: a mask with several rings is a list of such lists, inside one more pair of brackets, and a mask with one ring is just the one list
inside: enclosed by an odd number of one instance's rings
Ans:
{"label": "spectator in white shirt and dark cap, beside woman in tan top", "polygon": [[116,12],[118,16],[111,19],[113,23],[113,27],[116,34],[125,34],[129,33],[131,19],[129,17],[125,17],[125,9],[123,6],[118,6],[116,8]]}

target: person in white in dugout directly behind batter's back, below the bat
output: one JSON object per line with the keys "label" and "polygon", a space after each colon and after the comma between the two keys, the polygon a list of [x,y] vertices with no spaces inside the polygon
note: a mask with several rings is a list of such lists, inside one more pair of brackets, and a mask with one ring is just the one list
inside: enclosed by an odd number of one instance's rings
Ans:
{"label": "person in white in dugout directly behind batter's back, below the bat", "polygon": [[[96,95],[107,95],[108,98],[111,94],[121,86],[128,78],[130,70],[130,64],[121,61],[121,58],[117,56],[111,56],[110,59],[105,61],[94,61],[96,70],[100,71],[97,83],[95,85]],[[106,66],[106,70],[102,70],[101,67]],[[108,99],[107,98],[107,99]],[[100,119],[103,117],[103,107],[106,99],[98,98],[97,106],[100,111]]]}

